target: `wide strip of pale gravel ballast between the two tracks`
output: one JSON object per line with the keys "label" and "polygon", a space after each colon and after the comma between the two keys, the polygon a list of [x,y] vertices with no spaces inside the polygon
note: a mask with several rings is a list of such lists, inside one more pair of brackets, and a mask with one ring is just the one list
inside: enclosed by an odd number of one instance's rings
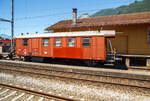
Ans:
{"label": "wide strip of pale gravel ballast between the two tracks", "polygon": [[90,81],[0,72],[0,83],[41,90],[84,101],[150,101],[150,89]]}

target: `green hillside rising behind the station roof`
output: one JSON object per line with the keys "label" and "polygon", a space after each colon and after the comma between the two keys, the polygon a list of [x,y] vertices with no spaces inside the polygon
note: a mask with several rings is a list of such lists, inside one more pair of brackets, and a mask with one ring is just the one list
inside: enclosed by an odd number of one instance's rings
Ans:
{"label": "green hillside rising behind the station roof", "polygon": [[118,8],[109,8],[100,10],[95,14],[91,15],[91,17],[146,12],[146,11],[150,11],[150,0],[136,1],[128,6],[123,5]]}

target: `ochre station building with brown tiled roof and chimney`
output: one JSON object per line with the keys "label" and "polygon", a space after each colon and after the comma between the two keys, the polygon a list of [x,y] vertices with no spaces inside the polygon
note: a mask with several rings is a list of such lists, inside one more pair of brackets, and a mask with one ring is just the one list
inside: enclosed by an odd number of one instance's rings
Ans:
{"label": "ochre station building with brown tiled roof and chimney", "polygon": [[[125,59],[126,65],[150,67],[150,12],[77,19],[77,9],[73,9],[72,20],[59,21],[45,30],[48,32],[115,30],[116,37],[108,40],[111,40],[118,56]],[[110,52],[109,48],[107,52]]]}

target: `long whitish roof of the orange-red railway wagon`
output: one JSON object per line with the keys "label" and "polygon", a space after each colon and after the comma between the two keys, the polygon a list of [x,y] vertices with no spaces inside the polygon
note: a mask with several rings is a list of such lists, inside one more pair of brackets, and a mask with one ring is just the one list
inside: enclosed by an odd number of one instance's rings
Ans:
{"label": "long whitish roof of the orange-red railway wagon", "polygon": [[114,36],[114,30],[101,31],[82,31],[82,32],[58,32],[58,33],[41,33],[41,34],[26,34],[18,35],[14,38],[50,38],[50,37],[76,37],[76,36]]}

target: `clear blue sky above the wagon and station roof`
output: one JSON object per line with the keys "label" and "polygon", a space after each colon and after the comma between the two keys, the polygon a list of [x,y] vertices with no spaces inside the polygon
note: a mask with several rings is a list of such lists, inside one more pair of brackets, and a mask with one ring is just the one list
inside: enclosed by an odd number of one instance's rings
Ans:
{"label": "clear blue sky above the wagon and station roof", "polygon": [[[44,33],[44,29],[61,20],[72,19],[72,8],[78,17],[106,8],[128,5],[134,0],[14,0],[14,34]],[[0,18],[11,19],[11,0],[0,0]],[[0,34],[11,35],[11,24],[0,22]]]}

